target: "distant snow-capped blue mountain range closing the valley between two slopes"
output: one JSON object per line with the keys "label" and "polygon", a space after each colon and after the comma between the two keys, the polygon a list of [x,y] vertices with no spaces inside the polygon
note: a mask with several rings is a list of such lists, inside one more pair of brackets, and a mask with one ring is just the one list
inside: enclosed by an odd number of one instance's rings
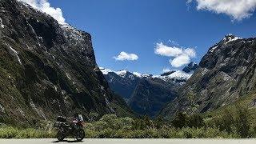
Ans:
{"label": "distant snow-capped blue mountain range closing the valley between two slopes", "polygon": [[[193,65],[193,66],[192,66]],[[155,117],[159,110],[177,97],[178,87],[182,86],[196,69],[191,63],[190,73],[170,70],[161,75],[131,73],[127,70],[113,71],[101,68],[106,81],[114,93],[121,95],[138,114]]]}

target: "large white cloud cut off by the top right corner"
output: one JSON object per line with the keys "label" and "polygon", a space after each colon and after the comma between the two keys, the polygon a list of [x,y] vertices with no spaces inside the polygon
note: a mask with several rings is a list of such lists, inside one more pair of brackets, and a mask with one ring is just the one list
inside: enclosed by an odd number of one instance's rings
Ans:
{"label": "large white cloud cut off by the top right corner", "polygon": [[[210,10],[217,14],[227,14],[233,20],[249,18],[255,8],[255,0],[195,0],[198,10]],[[188,0],[187,3],[192,2]]]}

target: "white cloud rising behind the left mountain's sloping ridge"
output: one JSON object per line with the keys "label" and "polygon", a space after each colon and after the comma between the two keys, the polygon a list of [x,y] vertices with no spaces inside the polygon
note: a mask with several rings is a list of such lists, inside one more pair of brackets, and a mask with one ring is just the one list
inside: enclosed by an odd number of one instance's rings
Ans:
{"label": "white cloud rising behind the left mountain's sloping ridge", "polygon": [[20,2],[26,2],[35,9],[41,10],[46,14],[49,14],[59,23],[65,23],[65,18],[62,15],[62,9],[54,8],[50,6],[50,3],[47,0],[18,0]]}

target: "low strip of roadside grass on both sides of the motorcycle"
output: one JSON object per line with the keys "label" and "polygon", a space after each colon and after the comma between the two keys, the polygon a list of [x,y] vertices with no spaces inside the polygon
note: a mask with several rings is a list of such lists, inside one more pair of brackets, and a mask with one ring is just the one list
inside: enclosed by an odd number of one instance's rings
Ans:
{"label": "low strip of roadside grass on both sides of the motorcycle", "polygon": [[[55,138],[56,131],[18,129],[10,126],[0,127],[0,138]],[[149,130],[90,130],[86,138],[238,138],[213,128],[149,129]]]}

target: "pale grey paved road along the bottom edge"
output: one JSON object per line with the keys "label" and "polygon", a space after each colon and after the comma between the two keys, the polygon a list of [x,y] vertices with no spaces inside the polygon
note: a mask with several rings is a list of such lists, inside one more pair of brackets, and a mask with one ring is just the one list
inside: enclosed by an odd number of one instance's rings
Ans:
{"label": "pale grey paved road along the bottom edge", "polygon": [[[0,144],[47,144],[70,143],[57,142],[56,139],[0,139]],[[86,144],[252,144],[256,139],[85,139]]]}

